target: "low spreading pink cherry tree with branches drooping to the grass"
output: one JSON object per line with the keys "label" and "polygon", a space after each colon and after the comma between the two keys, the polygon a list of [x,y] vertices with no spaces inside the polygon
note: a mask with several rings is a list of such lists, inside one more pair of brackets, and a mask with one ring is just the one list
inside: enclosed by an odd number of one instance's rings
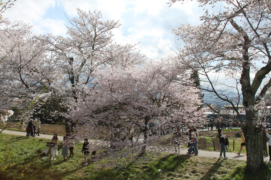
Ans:
{"label": "low spreading pink cherry tree with branches drooping to the grass", "polygon": [[[167,71],[160,62],[148,62],[143,67],[107,66],[96,71],[92,81],[98,83],[86,86],[68,113],[70,119],[80,121],[73,135],[91,139],[92,151],[104,148],[105,154],[114,157],[131,152],[143,155],[147,148],[167,149],[157,148],[159,132],[186,129],[188,124],[204,119],[205,109],[198,111],[199,90],[168,80],[157,69]],[[154,128],[147,128],[148,121],[156,124]],[[128,127],[134,129],[130,143]]]}

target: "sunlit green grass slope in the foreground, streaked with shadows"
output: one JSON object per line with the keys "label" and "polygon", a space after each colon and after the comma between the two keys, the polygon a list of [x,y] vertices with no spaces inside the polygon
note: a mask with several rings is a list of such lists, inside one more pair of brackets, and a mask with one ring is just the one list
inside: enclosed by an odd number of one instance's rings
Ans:
{"label": "sunlit green grass slope in the foreground, streaked with shadows", "polygon": [[[47,141],[49,140],[1,133],[0,157],[5,157],[5,145],[8,150],[12,149],[7,161],[9,164],[7,169],[0,170],[0,179],[11,180],[17,176],[22,180],[270,180],[271,178],[270,164],[265,164],[263,170],[255,177],[247,177],[243,174],[243,168],[246,165],[244,161],[156,152],[147,152],[141,158],[136,158],[136,155],[131,154],[128,160],[103,158],[89,162],[89,165],[84,167],[83,156],[80,152],[82,144],[79,142],[75,146],[73,159],[63,161],[62,150],[59,149],[60,155],[51,164],[49,164],[48,155],[34,161],[40,151],[46,148]],[[20,175],[22,171],[24,171],[23,176]]]}

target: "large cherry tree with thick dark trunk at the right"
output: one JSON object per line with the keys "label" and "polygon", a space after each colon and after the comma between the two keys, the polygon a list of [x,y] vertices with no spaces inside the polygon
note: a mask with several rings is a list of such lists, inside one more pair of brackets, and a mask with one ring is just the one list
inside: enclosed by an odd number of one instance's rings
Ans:
{"label": "large cherry tree with thick dark trunk at the right", "polygon": [[[246,124],[242,126],[247,144],[246,172],[258,172],[263,164],[263,148],[261,116],[257,110],[261,109],[258,105],[271,86],[270,1],[198,2],[201,6],[224,6],[218,12],[206,10],[200,25],[182,24],[173,29],[183,41],[177,51],[178,57],[173,59],[177,66],[181,64],[179,73],[187,72],[185,69],[198,72],[201,77],[199,89],[231,104],[239,118],[238,105],[243,104],[246,112]],[[229,91],[241,95],[230,97]]]}

